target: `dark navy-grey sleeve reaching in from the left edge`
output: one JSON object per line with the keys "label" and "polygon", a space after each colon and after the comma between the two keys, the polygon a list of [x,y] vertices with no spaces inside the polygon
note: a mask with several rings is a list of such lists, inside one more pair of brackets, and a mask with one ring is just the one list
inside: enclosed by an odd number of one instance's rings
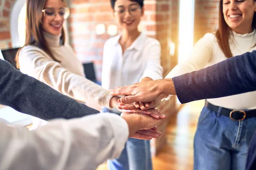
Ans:
{"label": "dark navy-grey sleeve reaching in from the left edge", "polygon": [[44,120],[71,119],[99,111],[89,108],[48,85],[22,74],[0,59],[0,104]]}

